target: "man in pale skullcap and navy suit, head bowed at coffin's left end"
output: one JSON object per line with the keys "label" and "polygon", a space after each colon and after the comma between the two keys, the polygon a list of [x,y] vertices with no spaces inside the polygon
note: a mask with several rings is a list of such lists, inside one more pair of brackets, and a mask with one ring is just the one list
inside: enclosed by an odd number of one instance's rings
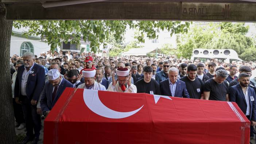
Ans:
{"label": "man in pale skullcap and navy suit, head bowed at coffin's left end", "polygon": [[47,73],[47,76],[49,81],[44,85],[40,101],[44,116],[47,116],[50,113],[65,88],[73,87],[72,83],[62,78],[57,69],[51,69]]}

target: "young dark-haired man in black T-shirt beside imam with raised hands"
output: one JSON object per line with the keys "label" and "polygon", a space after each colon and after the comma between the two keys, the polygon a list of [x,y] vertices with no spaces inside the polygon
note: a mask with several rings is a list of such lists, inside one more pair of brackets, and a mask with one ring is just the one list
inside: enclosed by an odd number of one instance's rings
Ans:
{"label": "young dark-haired man in black T-shirt beside imam with raised hands", "polygon": [[143,67],[144,78],[134,84],[137,87],[137,93],[161,95],[160,85],[155,79],[152,79],[152,72],[153,69],[151,66]]}

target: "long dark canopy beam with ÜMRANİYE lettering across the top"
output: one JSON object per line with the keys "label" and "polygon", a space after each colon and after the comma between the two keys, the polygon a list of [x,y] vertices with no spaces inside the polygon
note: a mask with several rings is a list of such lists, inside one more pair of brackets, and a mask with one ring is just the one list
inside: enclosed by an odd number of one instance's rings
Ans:
{"label": "long dark canopy beam with \u00dcMRAN\u0130YE lettering across the top", "polygon": [[2,0],[9,20],[255,22],[256,0]]}

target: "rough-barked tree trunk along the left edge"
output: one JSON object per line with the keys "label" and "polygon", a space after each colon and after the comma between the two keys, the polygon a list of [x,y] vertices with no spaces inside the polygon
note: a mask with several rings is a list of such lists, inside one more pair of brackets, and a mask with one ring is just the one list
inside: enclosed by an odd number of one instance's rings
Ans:
{"label": "rough-barked tree trunk along the left edge", "polygon": [[10,74],[12,21],[5,20],[5,7],[0,0],[0,143],[16,144]]}

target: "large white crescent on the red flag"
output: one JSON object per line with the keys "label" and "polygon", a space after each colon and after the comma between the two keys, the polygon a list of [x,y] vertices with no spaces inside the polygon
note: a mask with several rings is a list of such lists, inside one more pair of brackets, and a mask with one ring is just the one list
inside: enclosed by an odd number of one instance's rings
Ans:
{"label": "large white crescent on the red flag", "polygon": [[98,90],[84,89],[84,101],[86,106],[92,110],[94,113],[107,118],[125,118],[132,116],[133,114],[139,112],[139,109],[133,110],[132,112],[117,112],[115,110],[106,107],[98,96]]}

